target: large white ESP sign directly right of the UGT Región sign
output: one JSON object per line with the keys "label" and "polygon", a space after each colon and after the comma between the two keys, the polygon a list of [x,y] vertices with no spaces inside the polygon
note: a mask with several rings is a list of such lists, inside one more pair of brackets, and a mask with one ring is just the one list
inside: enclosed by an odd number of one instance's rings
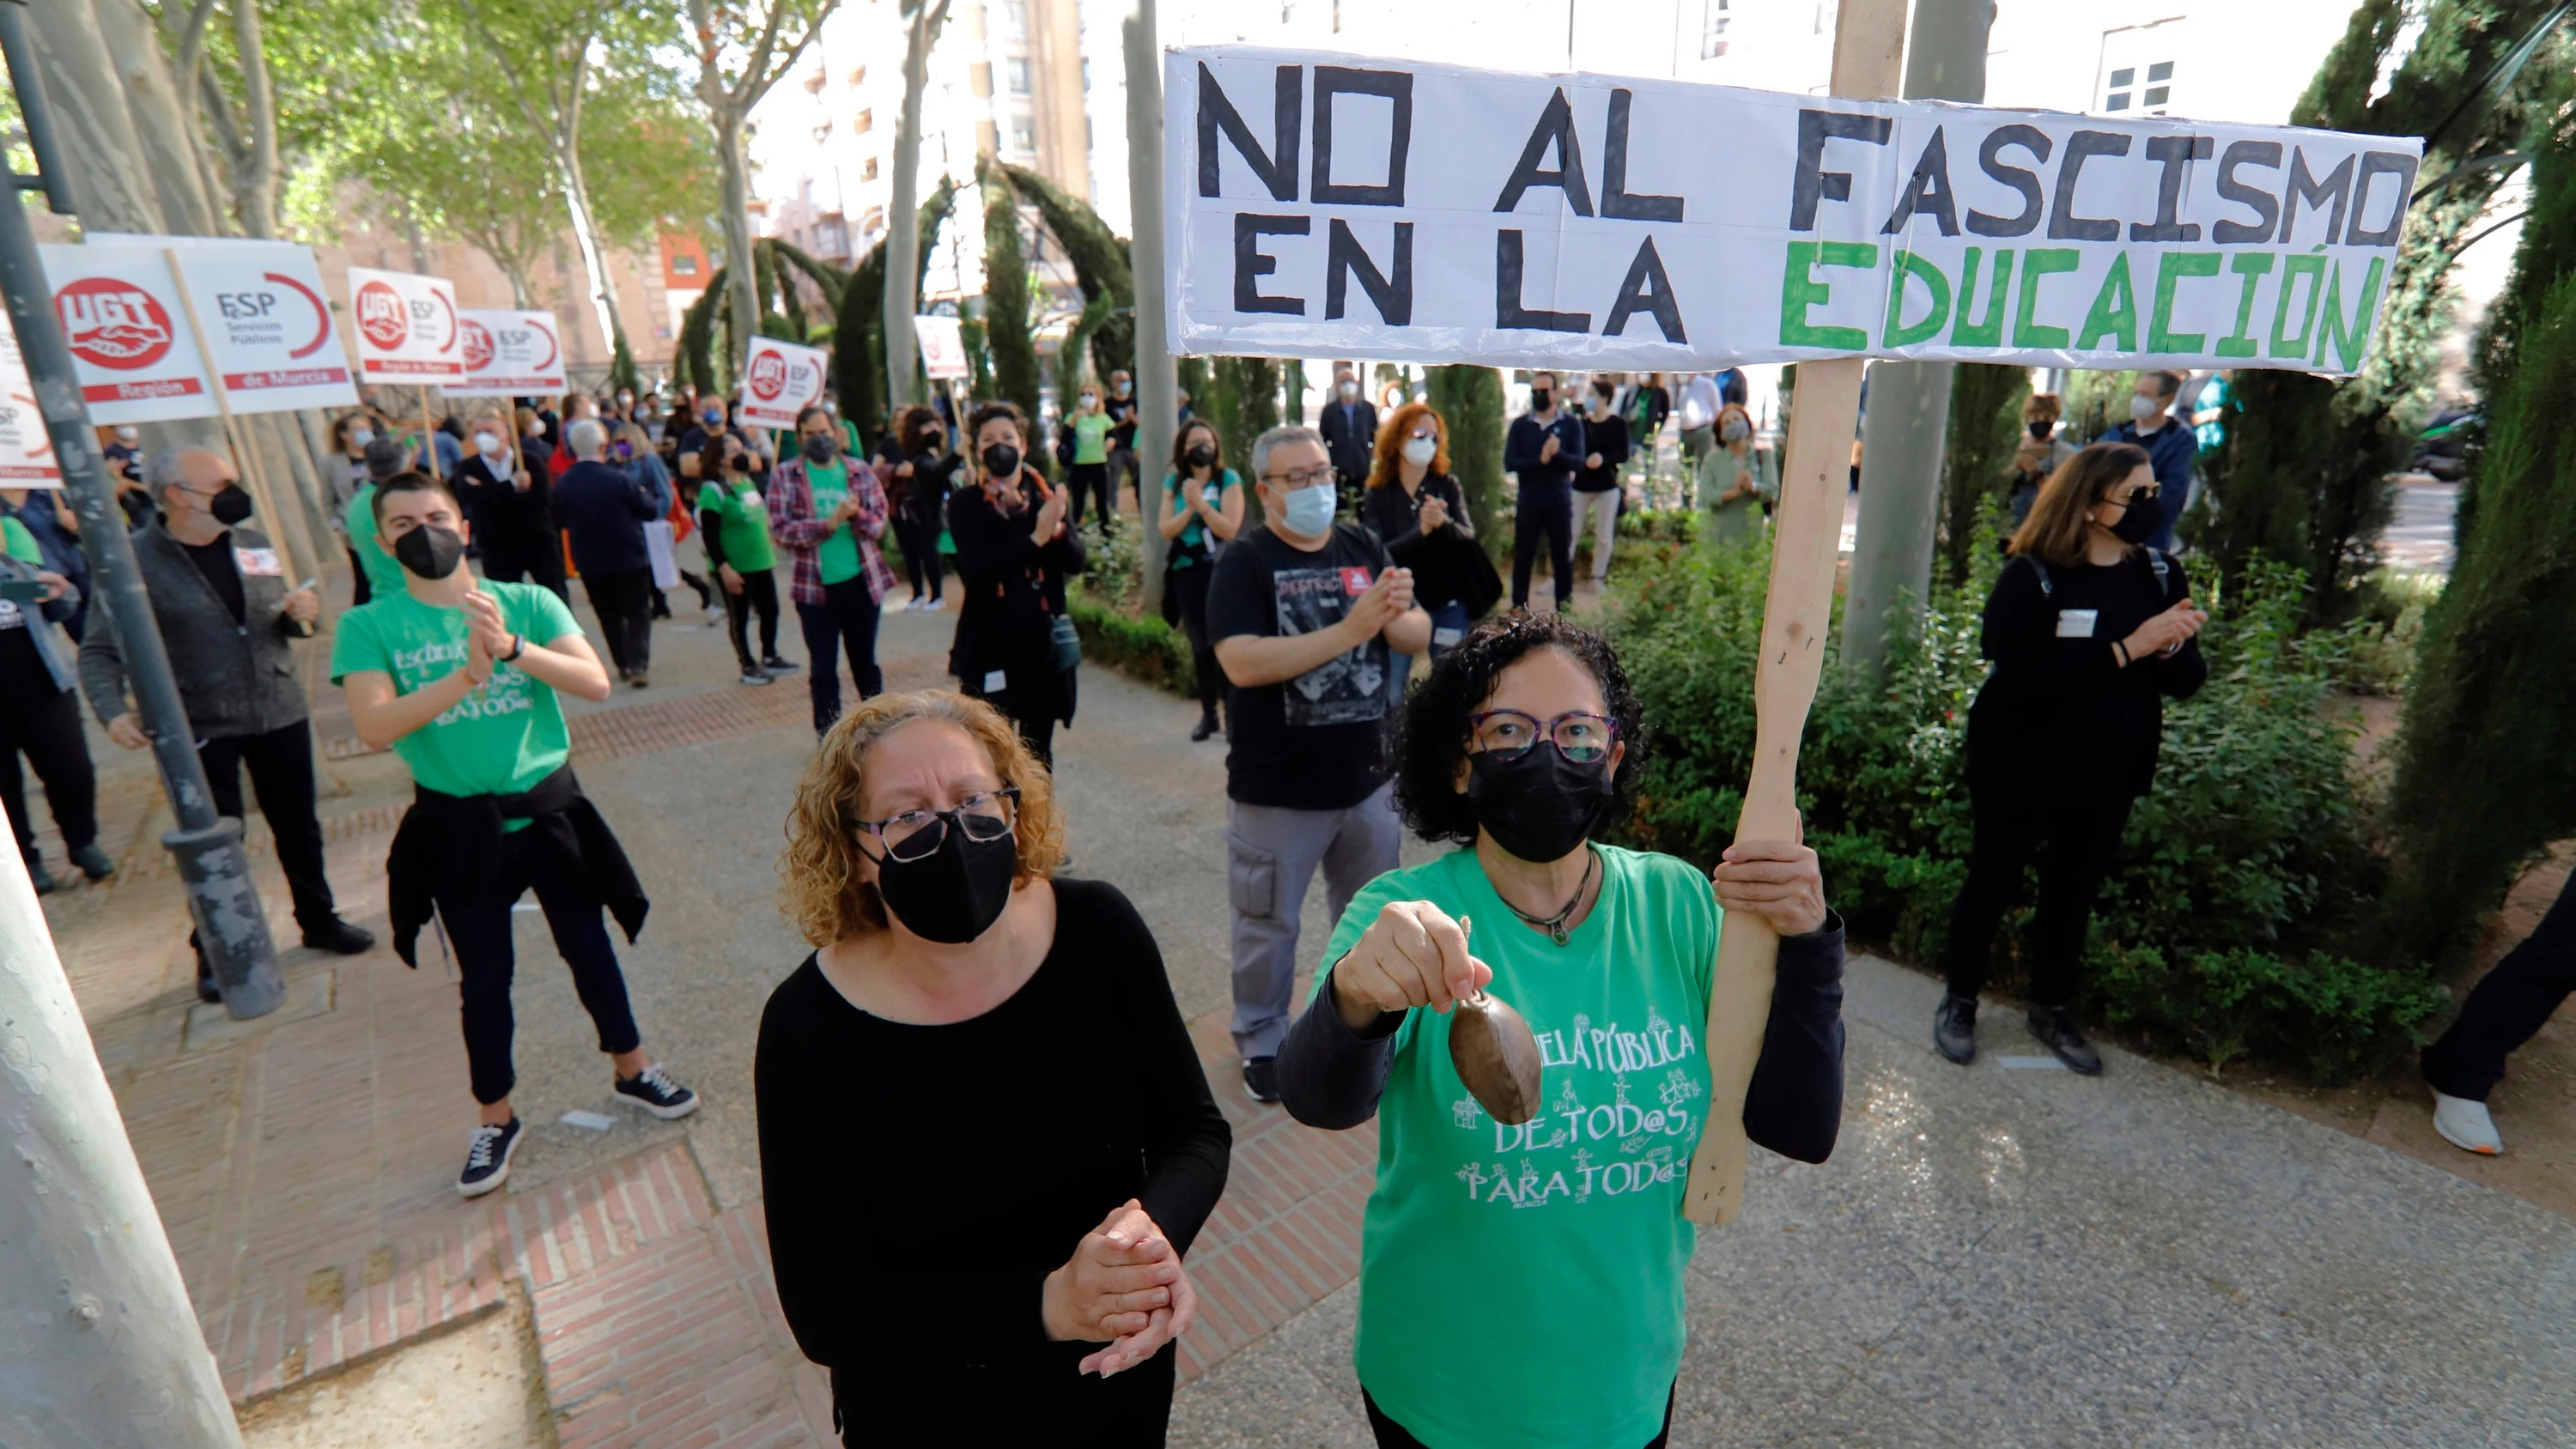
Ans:
{"label": "large white ESP sign directly right of the UGT Regi\u00f3n sign", "polygon": [[312,247],[234,242],[224,247],[170,237],[178,275],[196,301],[209,363],[224,378],[232,412],[350,407],[358,386],[332,329],[322,268]]}

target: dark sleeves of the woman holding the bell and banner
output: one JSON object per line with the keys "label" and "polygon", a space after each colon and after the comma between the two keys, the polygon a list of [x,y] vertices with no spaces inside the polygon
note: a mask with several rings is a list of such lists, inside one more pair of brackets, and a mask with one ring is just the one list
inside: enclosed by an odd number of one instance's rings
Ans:
{"label": "dark sleeves of the woman holding the bell and banner", "polygon": [[[1332,1004],[1332,981],[1280,1042],[1280,1102],[1309,1127],[1358,1127],[1378,1112],[1396,1066],[1396,1027],[1386,1011],[1352,1032]],[[1762,1058],[1744,1091],[1744,1135],[1765,1148],[1821,1163],[1842,1132],[1842,916],[1780,937],[1780,978],[1762,1027]]]}

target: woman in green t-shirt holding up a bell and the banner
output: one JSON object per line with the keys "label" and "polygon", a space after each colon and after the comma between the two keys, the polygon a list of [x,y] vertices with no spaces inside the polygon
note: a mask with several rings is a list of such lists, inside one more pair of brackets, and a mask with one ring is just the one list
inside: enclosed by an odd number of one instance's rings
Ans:
{"label": "woman in green t-shirt holding up a bell and the banner", "polygon": [[[1406,697],[1396,806],[1463,849],[1360,891],[1278,1058],[1298,1122],[1378,1117],[1352,1354],[1378,1444],[1664,1444],[1721,906],[1783,937],[1744,1130],[1801,1161],[1834,1148],[1842,924],[1816,852],[1736,842],[1710,893],[1682,860],[1592,844],[1625,813],[1641,723],[1610,646],[1558,615],[1479,625]],[[1479,986],[1538,1037],[1522,1125],[1450,1066],[1448,1009]]]}

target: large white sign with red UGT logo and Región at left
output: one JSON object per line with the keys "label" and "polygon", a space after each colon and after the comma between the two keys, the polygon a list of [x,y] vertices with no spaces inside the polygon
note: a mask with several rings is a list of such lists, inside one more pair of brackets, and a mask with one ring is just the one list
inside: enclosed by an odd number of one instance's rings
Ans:
{"label": "large white sign with red UGT logo and Regi\u00f3n at left", "polygon": [[39,247],[90,422],[214,417],[206,360],[157,247]]}

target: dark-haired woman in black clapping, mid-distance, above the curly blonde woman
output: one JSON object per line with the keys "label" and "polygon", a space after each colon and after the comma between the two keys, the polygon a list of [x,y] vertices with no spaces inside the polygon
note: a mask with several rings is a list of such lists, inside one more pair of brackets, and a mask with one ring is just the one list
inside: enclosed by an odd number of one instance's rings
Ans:
{"label": "dark-haired woman in black clapping, mid-distance, above the curly blonde woman", "polygon": [[1056,721],[1074,723],[1074,669],[1056,667],[1054,625],[1064,618],[1064,579],[1082,571],[1082,535],[1064,522],[1064,492],[1028,456],[1018,407],[976,407],[966,438],[979,466],[976,486],[948,494],[966,589],[948,672],[1054,764]]}

